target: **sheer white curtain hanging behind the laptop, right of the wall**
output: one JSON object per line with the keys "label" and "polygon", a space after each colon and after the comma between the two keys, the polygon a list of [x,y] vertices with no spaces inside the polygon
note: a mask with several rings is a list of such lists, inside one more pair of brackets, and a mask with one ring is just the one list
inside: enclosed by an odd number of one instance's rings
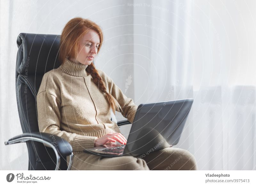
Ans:
{"label": "sheer white curtain hanging behind the laptop, right of the wall", "polygon": [[200,170],[256,170],[255,4],[134,1],[135,99],[194,98],[176,147]]}

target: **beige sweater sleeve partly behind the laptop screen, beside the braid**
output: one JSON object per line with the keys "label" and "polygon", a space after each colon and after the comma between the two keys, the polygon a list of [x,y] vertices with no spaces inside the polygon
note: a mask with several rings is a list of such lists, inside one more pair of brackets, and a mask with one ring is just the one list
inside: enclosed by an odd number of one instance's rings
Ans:
{"label": "beige sweater sleeve partly behind the laptop screen, beside the braid", "polygon": [[104,75],[106,76],[108,82],[109,93],[117,100],[117,102],[121,106],[122,115],[132,123],[138,106],[134,104],[132,98],[128,98],[124,95],[122,90],[114,83],[114,81],[108,75],[106,75],[105,73]]}

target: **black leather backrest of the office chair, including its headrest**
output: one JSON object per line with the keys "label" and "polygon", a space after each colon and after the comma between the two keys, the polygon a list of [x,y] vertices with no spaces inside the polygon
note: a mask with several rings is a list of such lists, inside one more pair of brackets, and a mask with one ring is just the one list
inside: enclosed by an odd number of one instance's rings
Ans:
{"label": "black leather backrest of the office chair, including its headrest", "polygon": [[[23,133],[39,132],[36,112],[36,95],[44,74],[58,68],[60,35],[21,33],[17,38],[16,96]],[[39,142],[26,142],[28,170],[54,170],[56,157],[51,148]],[[60,169],[67,169],[61,158]]]}

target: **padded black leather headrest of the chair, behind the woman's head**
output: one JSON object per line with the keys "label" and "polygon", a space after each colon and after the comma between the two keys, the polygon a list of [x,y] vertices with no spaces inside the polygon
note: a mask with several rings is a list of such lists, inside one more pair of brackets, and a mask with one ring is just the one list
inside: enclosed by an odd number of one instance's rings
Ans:
{"label": "padded black leather headrest of the chair, behind the woman's head", "polygon": [[18,74],[43,75],[60,66],[58,60],[60,35],[20,33],[17,45]]}

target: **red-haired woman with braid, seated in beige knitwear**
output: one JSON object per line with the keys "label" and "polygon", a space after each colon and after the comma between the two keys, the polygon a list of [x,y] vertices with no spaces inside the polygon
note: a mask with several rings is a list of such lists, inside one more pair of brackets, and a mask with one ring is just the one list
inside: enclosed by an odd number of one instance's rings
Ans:
{"label": "red-haired woman with braid, seated in beige knitwear", "polygon": [[83,152],[111,142],[126,144],[111,114],[121,112],[132,122],[138,107],[92,63],[102,43],[102,30],[96,23],[79,17],[68,21],[60,38],[61,65],[44,74],[36,97],[40,132],[60,136],[71,144],[71,170],[196,170],[194,156],[173,147],[142,159],[102,158]]}

